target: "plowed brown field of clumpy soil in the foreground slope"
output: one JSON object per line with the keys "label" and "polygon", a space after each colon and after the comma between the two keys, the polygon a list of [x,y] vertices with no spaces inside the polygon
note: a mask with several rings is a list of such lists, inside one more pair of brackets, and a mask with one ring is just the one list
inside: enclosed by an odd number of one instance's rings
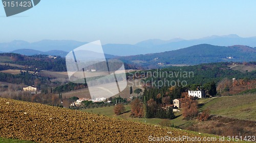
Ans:
{"label": "plowed brown field of clumpy soil in the foreground slope", "polygon": [[148,142],[153,137],[203,137],[103,115],[0,98],[0,136],[36,142]]}

